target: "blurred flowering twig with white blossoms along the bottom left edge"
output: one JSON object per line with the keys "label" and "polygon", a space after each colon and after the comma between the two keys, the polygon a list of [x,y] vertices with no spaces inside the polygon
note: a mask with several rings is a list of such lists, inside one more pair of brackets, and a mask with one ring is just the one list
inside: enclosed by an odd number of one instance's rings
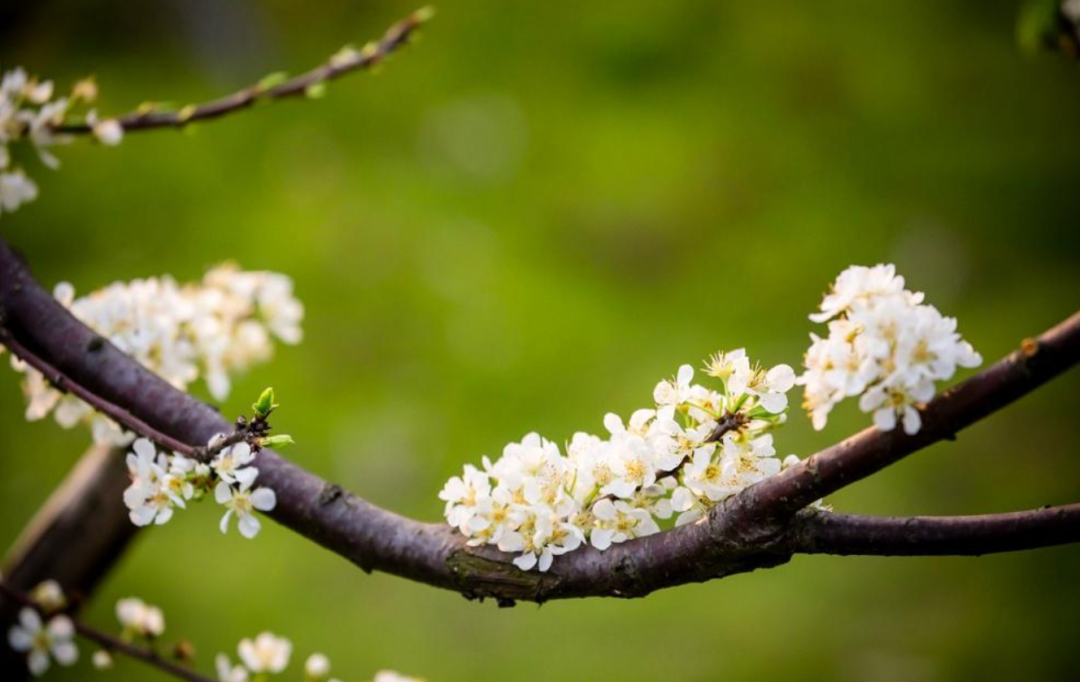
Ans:
{"label": "blurred flowering twig with white blossoms along the bottom left edge", "polygon": [[[193,670],[194,648],[180,640],[172,648],[172,656],[160,655],[157,646],[165,633],[165,616],[158,606],[136,597],[117,602],[116,614],[120,633],[111,636],[75,621],[64,611],[68,600],[55,580],[45,580],[29,594],[23,594],[0,581],[0,592],[23,604],[18,621],[8,630],[8,644],[26,656],[27,668],[35,677],[43,676],[55,660],[60,666],[73,666],[79,660],[77,634],[96,643],[100,648],[91,660],[98,670],[113,667],[113,654],[123,654],[157,667],[162,672],[189,682],[214,682]],[[227,654],[215,658],[219,682],[268,682],[270,676],[283,673],[293,657],[293,643],[272,632],[261,632],[255,638],[244,638],[237,646],[239,665],[232,665]],[[311,654],[303,664],[303,682],[340,682],[329,677],[330,661],[324,654]],[[392,670],[381,670],[373,682],[422,682]]]}

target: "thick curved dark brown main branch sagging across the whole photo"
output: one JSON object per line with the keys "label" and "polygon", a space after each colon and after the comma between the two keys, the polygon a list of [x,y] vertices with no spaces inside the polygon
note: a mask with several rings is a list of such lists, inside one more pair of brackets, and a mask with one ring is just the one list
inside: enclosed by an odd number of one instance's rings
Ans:
{"label": "thick curved dark brown main branch sagging across the whole photo", "polygon": [[[103,400],[185,443],[227,431],[212,407],[176,390],[85,327],[33,281],[0,240],[0,326],[23,347]],[[305,471],[276,453],[258,454],[259,481],[274,490],[270,513],[283,525],[349,559],[459,591],[467,597],[542,602],[571,597],[640,597],[788,561],[791,518],[821,496],[990,414],[1080,360],[1080,315],[1022,351],[931,401],[915,437],[868,429],[746,489],[698,523],[610,547],[561,557],[548,573],[522,572],[492,548],[469,548],[444,523],[420,523],[380,509]]]}

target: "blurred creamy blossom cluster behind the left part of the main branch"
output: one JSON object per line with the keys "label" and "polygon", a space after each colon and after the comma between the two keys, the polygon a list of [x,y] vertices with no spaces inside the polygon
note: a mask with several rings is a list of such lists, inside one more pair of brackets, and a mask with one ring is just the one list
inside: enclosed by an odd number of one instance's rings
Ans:
{"label": "blurred creamy blossom cluster behind the left part of the main branch", "polygon": [[[303,306],[291,278],[245,271],[226,264],[199,283],[180,285],[170,277],[116,282],[87,296],[59,283],[55,297],[71,313],[147,369],[180,390],[200,377],[211,395],[224,400],[231,373],[267,360],[273,338],[300,342]],[[25,374],[26,418],[50,413],[64,428],[90,424],[95,442],[126,445],[132,437],[73,396],[53,388],[45,377],[12,359]]]}

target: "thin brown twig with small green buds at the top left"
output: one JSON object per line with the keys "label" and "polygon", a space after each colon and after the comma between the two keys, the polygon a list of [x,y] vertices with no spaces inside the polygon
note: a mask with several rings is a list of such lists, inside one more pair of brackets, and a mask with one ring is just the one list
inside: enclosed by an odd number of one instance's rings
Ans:
{"label": "thin brown twig with small green buds at the top left", "polygon": [[[139,109],[117,118],[125,131],[143,131],[156,128],[184,128],[190,123],[216,119],[227,113],[246,109],[258,102],[284,99],[306,95],[312,88],[322,85],[346,73],[370,69],[386,59],[399,48],[408,44],[409,37],[431,16],[430,10],[418,10],[397,22],[378,42],[370,43],[355,53],[332,58],[306,73],[296,76],[273,86],[259,83],[244,88],[226,97],[200,105],[184,107],[178,111],[154,111]],[[57,133],[85,134],[93,128],[86,123],[65,123],[54,128]]]}

